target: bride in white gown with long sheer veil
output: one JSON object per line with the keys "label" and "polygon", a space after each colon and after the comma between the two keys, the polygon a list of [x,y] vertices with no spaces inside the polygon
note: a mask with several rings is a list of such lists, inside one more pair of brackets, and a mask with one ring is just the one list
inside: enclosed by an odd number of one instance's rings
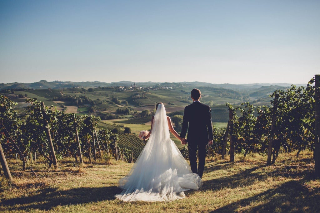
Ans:
{"label": "bride in white gown with long sheer veil", "polygon": [[149,141],[128,175],[120,179],[119,186],[123,191],[116,194],[116,198],[125,202],[171,202],[185,198],[184,191],[201,187],[201,178],[192,173],[170,139],[169,130],[182,141],[166,115],[164,104],[157,103],[156,113],[151,119],[151,131],[144,137],[150,137]]}

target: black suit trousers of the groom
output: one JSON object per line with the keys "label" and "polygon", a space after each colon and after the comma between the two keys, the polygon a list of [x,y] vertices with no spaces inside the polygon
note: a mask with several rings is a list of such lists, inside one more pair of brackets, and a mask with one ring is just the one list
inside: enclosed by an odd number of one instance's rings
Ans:
{"label": "black suit trousers of the groom", "polygon": [[[193,173],[197,173],[202,178],[205,163],[206,142],[188,141],[188,151],[190,167]],[[197,151],[199,156],[199,165],[197,166]]]}

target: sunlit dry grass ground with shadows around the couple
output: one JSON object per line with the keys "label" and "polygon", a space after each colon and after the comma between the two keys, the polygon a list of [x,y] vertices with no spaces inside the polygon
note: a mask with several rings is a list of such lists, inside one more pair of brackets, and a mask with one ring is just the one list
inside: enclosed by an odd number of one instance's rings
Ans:
{"label": "sunlit dry grass ground with shadows around the couple", "polygon": [[3,212],[320,212],[320,181],[314,179],[312,152],[280,154],[266,166],[266,156],[236,155],[236,161],[206,161],[204,185],[187,191],[186,198],[165,202],[122,202],[113,196],[122,190],[117,182],[133,164],[113,161],[76,168],[71,160],[60,169],[33,163],[9,162],[14,184],[0,178]]}

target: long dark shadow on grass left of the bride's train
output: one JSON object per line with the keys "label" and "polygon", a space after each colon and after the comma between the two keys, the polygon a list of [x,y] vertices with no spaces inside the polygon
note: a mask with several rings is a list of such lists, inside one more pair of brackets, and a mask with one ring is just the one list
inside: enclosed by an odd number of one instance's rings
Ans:
{"label": "long dark shadow on grass left of the bride's train", "polygon": [[38,190],[36,195],[4,200],[1,202],[1,205],[7,206],[5,210],[9,211],[23,209],[50,210],[59,205],[77,205],[114,200],[114,195],[121,193],[121,191],[122,190],[116,186],[95,188],[81,187],[68,190],[46,188]]}

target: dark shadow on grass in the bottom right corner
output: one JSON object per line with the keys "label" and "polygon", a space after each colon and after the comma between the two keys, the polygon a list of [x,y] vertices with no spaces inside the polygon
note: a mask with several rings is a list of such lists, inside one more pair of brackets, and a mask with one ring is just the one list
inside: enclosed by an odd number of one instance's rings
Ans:
{"label": "dark shadow on grass in the bottom right corner", "polygon": [[299,181],[291,180],[212,212],[320,212],[319,199],[319,189],[310,192]]}

